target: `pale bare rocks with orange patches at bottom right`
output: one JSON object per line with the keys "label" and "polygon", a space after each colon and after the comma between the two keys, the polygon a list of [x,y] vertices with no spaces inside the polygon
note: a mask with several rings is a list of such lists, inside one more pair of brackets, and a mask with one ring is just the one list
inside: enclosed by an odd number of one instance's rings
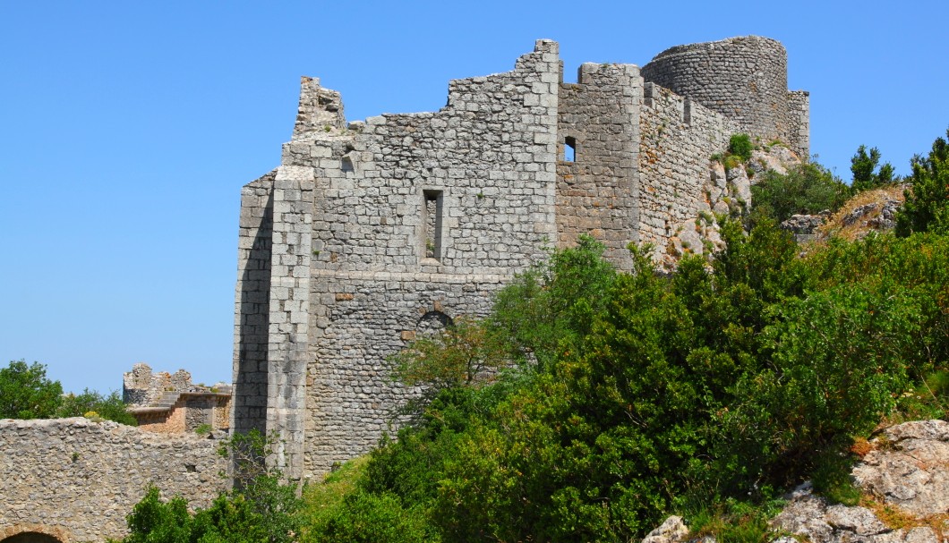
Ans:
{"label": "pale bare rocks with orange patches at bottom right", "polygon": [[[772,543],[949,542],[949,423],[917,421],[885,429],[851,472],[859,505],[831,504],[809,483],[772,518]],[[712,543],[670,516],[643,543]]]}

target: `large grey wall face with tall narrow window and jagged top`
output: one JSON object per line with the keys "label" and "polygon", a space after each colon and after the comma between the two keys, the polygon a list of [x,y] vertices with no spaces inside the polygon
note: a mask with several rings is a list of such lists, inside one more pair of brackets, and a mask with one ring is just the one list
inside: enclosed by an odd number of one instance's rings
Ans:
{"label": "large grey wall face with tall narrow window and jagged top", "polygon": [[[312,167],[304,473],[367,451],[412,394],[385,357],[419,331],[483,315],[556,244],[557,45],[512,72],[452,81],[435,113],[295,136]],[[306,90],[305,90],[306,92]]]}

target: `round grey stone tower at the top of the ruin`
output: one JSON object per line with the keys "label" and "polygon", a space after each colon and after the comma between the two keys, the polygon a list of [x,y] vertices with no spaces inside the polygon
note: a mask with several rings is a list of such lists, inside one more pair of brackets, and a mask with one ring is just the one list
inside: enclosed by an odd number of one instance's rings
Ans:
{"label": "round grey stone tower at the top of the ruin", "polygon": [[743,36],[679,45],[642,66],[642,78],[734,119],[738,132],[761,143],[792,143],[796,136],[788,124],[788,53],[775,40]]}

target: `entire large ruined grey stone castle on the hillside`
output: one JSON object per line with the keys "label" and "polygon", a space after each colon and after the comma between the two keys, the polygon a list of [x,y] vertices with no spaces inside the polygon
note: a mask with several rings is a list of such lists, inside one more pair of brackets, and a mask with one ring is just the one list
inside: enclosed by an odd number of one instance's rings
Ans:
{"label": "entire large ruined grey stone castle on the hillside", "polygon": [[511,72],[451,81],[435,113],[348,124],[304,78],[281,165],[241,193],[233,429],[276,430],[294,478],[365,452],[412,393],[385,357],[486,314],[545,247],[590,233],[628,269],[626,244],[661,251],[708,208],[729,136],[806,156],[786,64],[777,42],[734,38],[564,83],[540,40]]}

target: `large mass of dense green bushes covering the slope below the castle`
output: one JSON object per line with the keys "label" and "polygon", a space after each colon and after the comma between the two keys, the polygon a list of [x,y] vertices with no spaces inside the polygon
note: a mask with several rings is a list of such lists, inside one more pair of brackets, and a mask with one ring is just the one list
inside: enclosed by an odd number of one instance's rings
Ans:
{"label": "large mass of dense green bushes covering the slope below the castle", "polygon": [[329,517],[425,520],[401,541],[625,541],[696,503],[836,480],[854,437],[946,371],[949,238],[801,256],[764,218],[722,235],[711,271],[693,256],[661,276],[634,249],[617,273],[586,239],[520,276],[483,325],[526,361],[440,388]]}

